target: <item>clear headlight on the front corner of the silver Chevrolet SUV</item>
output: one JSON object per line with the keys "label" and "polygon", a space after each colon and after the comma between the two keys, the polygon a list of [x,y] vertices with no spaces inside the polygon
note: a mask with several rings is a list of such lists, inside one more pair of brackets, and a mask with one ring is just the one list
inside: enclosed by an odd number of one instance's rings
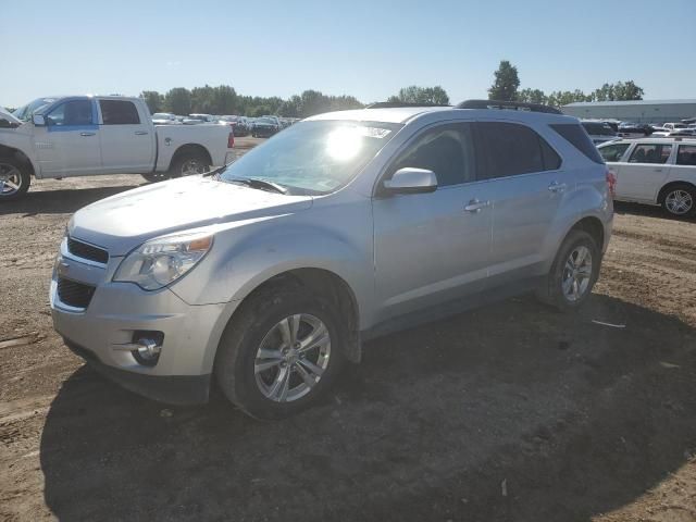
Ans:
{"label": "clear headlight on the front corner of the silver Chevrolet SUV", "polygon": [[123,260],[113,281],[136,283],[157,290],[178,279],[196,266],[210,250],[210,234],[183,234],[144,243]]}

